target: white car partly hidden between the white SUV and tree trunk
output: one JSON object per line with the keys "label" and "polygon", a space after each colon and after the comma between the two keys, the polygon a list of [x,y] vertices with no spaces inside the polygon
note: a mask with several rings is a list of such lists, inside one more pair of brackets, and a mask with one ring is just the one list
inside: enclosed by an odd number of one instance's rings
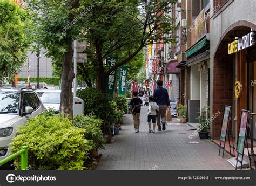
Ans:
{"label": "white car partly hidden between the white SUV and tree trunk", "polygon": [[45,108],[59,112],[60,90],[38,89],[36,90]]}

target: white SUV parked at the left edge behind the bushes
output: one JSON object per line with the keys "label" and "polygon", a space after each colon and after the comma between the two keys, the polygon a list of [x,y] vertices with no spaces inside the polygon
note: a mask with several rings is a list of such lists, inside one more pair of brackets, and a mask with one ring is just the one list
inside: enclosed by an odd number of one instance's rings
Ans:
{"label": "white SUV parked at the left edge behind the bushes", "polygon": [[0,160],[10,155],[10,143],[18,127],[44,109],[37,93],[31,88],[0,87]]}

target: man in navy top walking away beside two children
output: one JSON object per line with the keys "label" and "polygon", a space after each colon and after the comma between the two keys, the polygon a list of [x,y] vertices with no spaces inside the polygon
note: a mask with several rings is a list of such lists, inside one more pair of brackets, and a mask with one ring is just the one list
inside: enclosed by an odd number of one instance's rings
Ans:
{"label": "man in navy top walking away beside two children", "polygon": [[[157,80],[157,88],[154,90],[154,101],[159,106],[159,111],[157,112],[157,127],[158,131],[162,129],[165,130],[166,123],[166,110],[170,107],[170,100],[167,89],[163,88],[163,81]],[[163,128],[161,127],[161,121]]]}

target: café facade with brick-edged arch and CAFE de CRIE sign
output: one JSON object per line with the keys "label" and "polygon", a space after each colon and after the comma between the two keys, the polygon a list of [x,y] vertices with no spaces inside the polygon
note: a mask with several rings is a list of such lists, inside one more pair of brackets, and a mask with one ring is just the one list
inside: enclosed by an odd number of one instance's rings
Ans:
{"label": "caf\u00e9 facade with brick-edged arch and CAFE de CRIE sign", "polygon": [[[212,1],[211,114],[232,106],[233,137],[238,136],[241,109],[256,112],[256,3],[254,0]],[[236,88],[235,88],[236,87]],[[219,137],[222,117],[212,121],[211,136]],[[251,119],[256,139],[255,119]]]}

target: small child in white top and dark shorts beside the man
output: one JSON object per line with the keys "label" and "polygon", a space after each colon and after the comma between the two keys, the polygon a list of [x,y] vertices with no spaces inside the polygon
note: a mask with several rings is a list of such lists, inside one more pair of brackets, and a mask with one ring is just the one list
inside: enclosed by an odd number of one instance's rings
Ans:
{"label": "small child in white top and dark shorts beside the man", "polygon": [[[154,133],[154,129],[156,129],[156,111],[159,111],[159,106],[157,106],[157,104],[154,102],[154,97],[152,95],[149,97],[149,100],[149,108],[147,109],[147,123],[149,123],[149,133]],[[153,130],[151,130],[151,120],[153,123]]]}

